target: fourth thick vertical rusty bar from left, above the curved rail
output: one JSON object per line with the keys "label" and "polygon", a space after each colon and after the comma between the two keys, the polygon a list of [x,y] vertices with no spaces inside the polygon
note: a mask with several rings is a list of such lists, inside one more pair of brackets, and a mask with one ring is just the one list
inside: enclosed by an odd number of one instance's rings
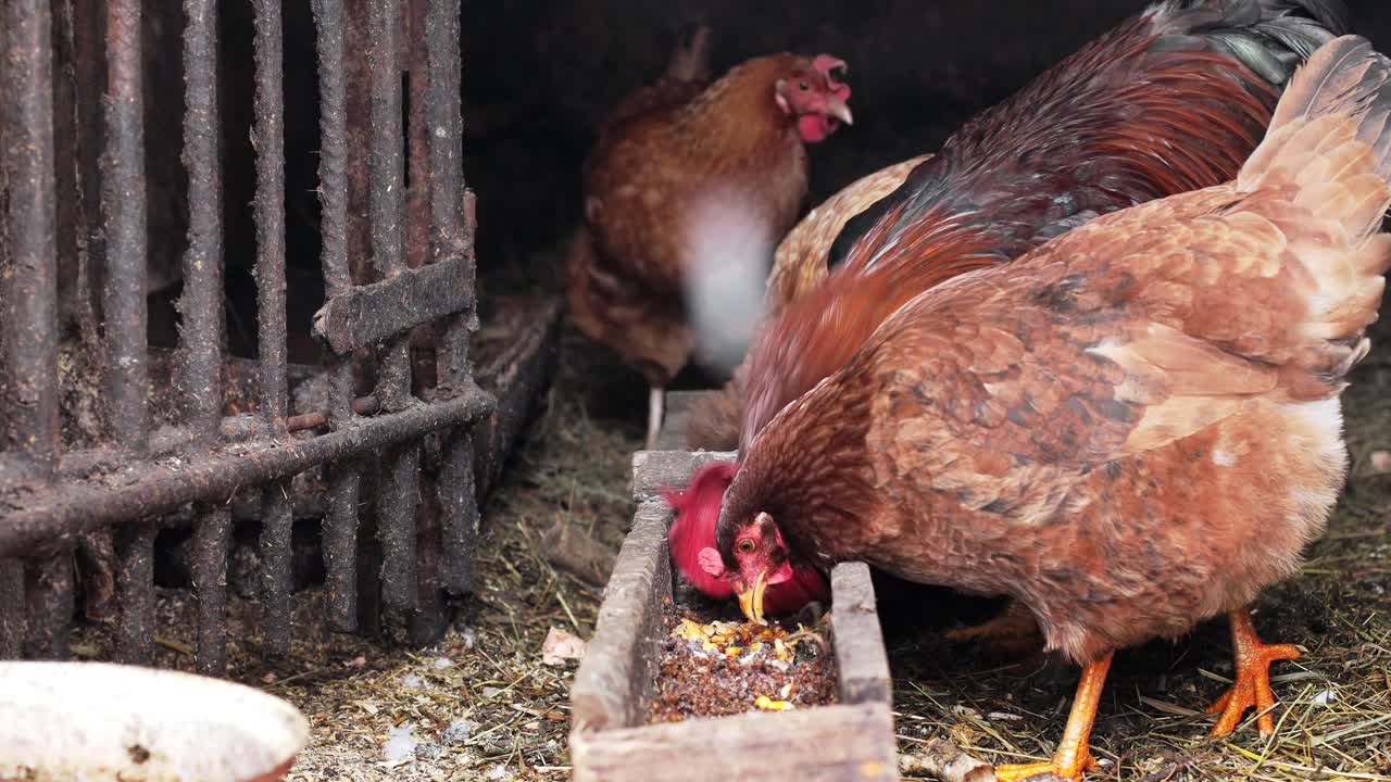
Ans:
{"label": "fourth thick vertical rusty bar from left, above the curved rail", "polygon": [[255,0],[256,11],[256,321],[260,338],[262,416],[285,431],[285,95],[280,0]]}

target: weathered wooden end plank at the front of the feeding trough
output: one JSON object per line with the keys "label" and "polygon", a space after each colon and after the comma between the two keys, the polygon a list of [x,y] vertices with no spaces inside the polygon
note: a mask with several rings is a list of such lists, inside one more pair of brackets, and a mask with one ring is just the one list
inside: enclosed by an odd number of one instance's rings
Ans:
{"label": "weathered wooden end plank at the front of the feeding trough", "polygon": [[[823,705],[570,735],[574,782],[897,779],[885,704]],[[693,767],[696,764],[696,767]]]}

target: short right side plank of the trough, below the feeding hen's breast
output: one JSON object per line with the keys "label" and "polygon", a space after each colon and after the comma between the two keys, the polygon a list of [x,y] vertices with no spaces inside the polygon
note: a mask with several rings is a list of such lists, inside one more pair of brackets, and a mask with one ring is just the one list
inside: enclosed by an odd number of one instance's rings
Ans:
{"label": "short right side plank of the trough, below the feeding hen's breast", "polygon": [[842,562],[830,572],[830,632],[840,703],[892,705],[889,654],[875,609],[869,565]]}

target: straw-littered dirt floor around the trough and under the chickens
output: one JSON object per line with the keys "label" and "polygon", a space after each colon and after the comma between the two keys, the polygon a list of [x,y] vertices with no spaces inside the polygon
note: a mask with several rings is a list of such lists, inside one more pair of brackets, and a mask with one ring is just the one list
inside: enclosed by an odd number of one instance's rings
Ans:
{"label": "straw-littered dirt floor around the trough and under the chickens", "polygon": [[[1117,657],[1089,779],[1391,781],[1391,473],[1372,452],[1391,448],[1391,341],[1345,395],[1353,458],[1349,490],[1303,573],[1259,604],[1271,641],[1303,646],[1276,665],[1277,737],[1253,725],[1206,739],[1202,705],[1231,675],[1225,626],[1212,622],[1175,644]],[[622,541],[632,516],[630,454],[645,392],[572,331],[547,410],[531,427],[485,509],[483,590],[465,621],[435,647],[366,641],[323,630],[320,597],[298,598],[289,660],[260,660],[255,605],[232,603],[234,678],[287,697],[313,725],[292,781],[565,779],[568,687],[576,662],[541,662],[551,628],[588,637],[597,589],[556,573],[538,536],[558,516],[598,540]],[[950,736],[989,761],[1043,758],[1059,739],[1075,669],[986,654],[942,640],[958,615],[924,618],[922,605],[885,584],[882,611],[896,676],[900,749]],[[195,607],[161,597],[160,662],[192,667]],[[924,626],[926,622],[926,626]],[[103,655],[100,629],[74,639],[78,657]]]}

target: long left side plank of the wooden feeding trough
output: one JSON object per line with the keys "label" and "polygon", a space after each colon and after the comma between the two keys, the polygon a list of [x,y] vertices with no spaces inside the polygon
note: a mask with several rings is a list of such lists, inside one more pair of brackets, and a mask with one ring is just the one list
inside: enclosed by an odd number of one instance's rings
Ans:
{"label": "long left side plank of the wooden feeding trough", "polygon": [[643,502],[604,591],[594,637],[570,689],[574,731],[641,725],[662,646],[662,603],[672,594],[670,511]]}

